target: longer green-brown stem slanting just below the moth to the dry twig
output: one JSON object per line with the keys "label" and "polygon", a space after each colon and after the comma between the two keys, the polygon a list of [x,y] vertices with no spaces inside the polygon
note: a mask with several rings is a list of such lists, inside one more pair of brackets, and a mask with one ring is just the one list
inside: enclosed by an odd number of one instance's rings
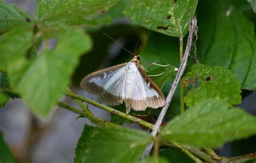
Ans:
{"label": "longer green-brown stem slanting just below the moth to the dry twig", "polygon": [[148,123],[146,121],[143,121],[142,119],[139,119],[139,118],[136,118],[136,117],[133,117],[133,116],[130,116],[130,115],[126,115],[124,112],[121,112],[121,111],[118,111],[118,110],[115,110],[113,108],[110,108],[110,107],[107,107],[106,105],[103,105],[103,104],[100,104],[96,101],[93,101],[89,98],[85,98],[83,96],[79,96],[79,95],[76,95],[75,93],[73,93],[71,90],[69,89],[66,89],[66,95],[67,96],[70,96],[72,98],[76,98],[80,101],[83,101],[83,102],[87,102],[89,104],[92,104],[92,105],[95,105],[96,107],[100,108],[100,109],[103,109],[103,110],[106,110],[108,112],[111,112],[112,114],[116,114],[120,117],[123,117],[129,121],[132,121],[132,122],[135,122],[135,123],[138,123],[139,125],[142,125],[142,126],[145,126],[149,129],[153,129],[153,125],[151,123]]}

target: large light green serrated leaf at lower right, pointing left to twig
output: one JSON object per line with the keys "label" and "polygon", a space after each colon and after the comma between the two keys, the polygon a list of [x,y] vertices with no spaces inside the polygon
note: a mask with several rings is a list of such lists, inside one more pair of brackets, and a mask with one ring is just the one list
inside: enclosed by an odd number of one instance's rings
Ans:
{"label": "large light green serrated leaf at lower right, pointing left to twig", "polygon": [[160,132],[160,141],[178,141],[197,147],[220,147],[226,141],[256,134],[256,118],[242,109],[206,99],[174,118]]}

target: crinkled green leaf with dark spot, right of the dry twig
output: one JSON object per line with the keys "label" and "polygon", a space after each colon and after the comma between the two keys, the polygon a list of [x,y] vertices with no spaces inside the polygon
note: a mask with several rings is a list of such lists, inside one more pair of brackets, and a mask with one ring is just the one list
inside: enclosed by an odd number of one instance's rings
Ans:
{"label": "crinkled green leaf with dark spot, right of the dry twig", "polygon": [[[230,105],[241,103],[240,83],[230,70],[194,64],[186,70],[183,76],[184,86],[190,86],[188,83],[192,83],[192,88],[185,97],[188,107],[208,97],[219,98]],[[199,86],[194,88],[193,83]]]}

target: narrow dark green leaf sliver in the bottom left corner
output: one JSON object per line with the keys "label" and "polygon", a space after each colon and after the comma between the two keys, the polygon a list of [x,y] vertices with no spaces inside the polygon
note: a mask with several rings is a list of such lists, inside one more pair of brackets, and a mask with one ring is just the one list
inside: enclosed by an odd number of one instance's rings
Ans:
{"label": "narrow dark green leaf sliver in the bottom left corner", "polygon": [[8,163],[16,162],[14,155],[12,155],[9,147],[4,142],[2,132],[0,132],[0,162],[8,162]]}

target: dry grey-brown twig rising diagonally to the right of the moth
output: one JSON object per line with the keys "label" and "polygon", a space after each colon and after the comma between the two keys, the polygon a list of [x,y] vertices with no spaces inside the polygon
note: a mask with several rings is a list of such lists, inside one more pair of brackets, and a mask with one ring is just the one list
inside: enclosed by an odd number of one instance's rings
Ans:
{"label": "dry grey-brown twig rising diagonally to the right of the moth", "polygon": [[[173,96],[175,90],[177,89],[177,86],[179,84],[181,76],[184,73],[184,70],[185,70],[186,64],[187,64],[187,58],[190,55],[190,49],[191,49],[191,46],[192,46],[193,35],[194,35],[194,33],[197,32],[196,29],[197,29],[197,19],[192,19],[190,21],[190,31],[189,31],[189,34],[188,34],[187,45],[186,45],[186,50],[185,50],[185,53],[184,53],[184,56],[183,56],[183,60],[180,63],[179,70],[177,72],[177,75],[176,75],[173,83],[172,83],[172,88],[171,88],[168,96],[166,97],[166,104],[164,105],[163,109],[160,112],[160,115],[157,119],[157,123],[153,127],[153,131],[151,132],[152,137],[157,136],[157,133],[160,129],[160,125],[163,122],[166,111],[167,111],[167,109],[168,109],[168,107],[171,103],[172,96]],[[152,147],[153,147],[153,143],[151,143],[149,146],[146,147],[146,149],[145,149],[145,151],[142,155],[142,158],[145,158],[145,157],[149,156]]]}

